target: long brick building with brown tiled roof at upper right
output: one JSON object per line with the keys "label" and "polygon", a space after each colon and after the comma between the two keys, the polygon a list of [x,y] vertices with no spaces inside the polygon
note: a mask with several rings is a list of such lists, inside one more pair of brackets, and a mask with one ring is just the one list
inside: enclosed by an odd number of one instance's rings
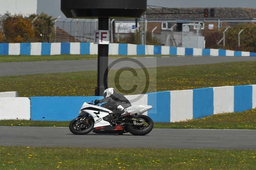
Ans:
{"label": "long brick building with brown tiled roof at upper right", "polygon": [[[172,11],[166,8],[148,8],[147,30],[152,31],[156,26],[155,34],[160,34],[163,30],[177,24],[174,31],[182,31],[184,23],[199,23],[204,29],[218,29],[230,27],[239,23],[256,22],[256,8],[214,8],[214,17],[204,17],[204,8],[176,8]],[[176,13],[176,14],[171,14]],[[209,27],[210,25],[210,27]]]}

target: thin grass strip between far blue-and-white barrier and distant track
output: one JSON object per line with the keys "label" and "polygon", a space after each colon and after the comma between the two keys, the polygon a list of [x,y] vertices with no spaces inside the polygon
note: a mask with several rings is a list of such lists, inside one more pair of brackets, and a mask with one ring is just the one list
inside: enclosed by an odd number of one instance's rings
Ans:
{"label": "thin grass strip between far blue-and-white barrier and distant track", "polygon": [[[170,56],[170,55],[135,55],[135,56],[120,56],[109,55],[109,58],[122,58],[122,57],[147,57],[147,56]],[[24,62],[24,61],[54,61],[54,60],[84,60],[84,59],[97,59],[97,55],[52,55],[52,56],[12,56],[3,55],[0,56],[0,63],[3,62]]]}

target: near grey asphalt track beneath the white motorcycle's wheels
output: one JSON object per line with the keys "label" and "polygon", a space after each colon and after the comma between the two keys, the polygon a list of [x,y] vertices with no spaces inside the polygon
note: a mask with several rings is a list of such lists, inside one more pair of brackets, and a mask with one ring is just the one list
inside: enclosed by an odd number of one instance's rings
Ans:
{"label": "near grey asphalt track beneath the white motorcycle's wheels", "polygon": [[145,136],[73,135],[69,128],[0,127],[2,146],[256,149],[256,130],[153,129]]}

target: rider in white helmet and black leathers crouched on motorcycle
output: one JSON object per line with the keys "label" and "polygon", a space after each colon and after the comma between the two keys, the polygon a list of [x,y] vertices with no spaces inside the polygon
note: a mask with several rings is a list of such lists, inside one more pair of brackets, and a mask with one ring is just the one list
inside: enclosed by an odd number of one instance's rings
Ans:
{"label": "rider in white helmet and black leathers crouched on motorcycle", "polygon": [[107,108],[111,111],[123,111],[124,109],[132,106],[129,100],[119,93],[116,93],[113,88],[108,88],[103,93],[104,99],[95,100],[94,104],[102,104],[101,107]]}

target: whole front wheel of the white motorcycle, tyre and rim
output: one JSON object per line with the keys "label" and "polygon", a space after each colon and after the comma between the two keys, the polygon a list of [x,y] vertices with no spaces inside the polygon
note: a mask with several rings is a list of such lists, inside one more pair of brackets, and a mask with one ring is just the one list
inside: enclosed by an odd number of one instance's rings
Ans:
{"label": "whole front wheel of the white motorcycle, tyre and rim", "polygon": [[92,131],[93,127],[94,121],[83,120],[83,117],[78,117],[69,123],[69,130],[75,135],[86,135]]}

